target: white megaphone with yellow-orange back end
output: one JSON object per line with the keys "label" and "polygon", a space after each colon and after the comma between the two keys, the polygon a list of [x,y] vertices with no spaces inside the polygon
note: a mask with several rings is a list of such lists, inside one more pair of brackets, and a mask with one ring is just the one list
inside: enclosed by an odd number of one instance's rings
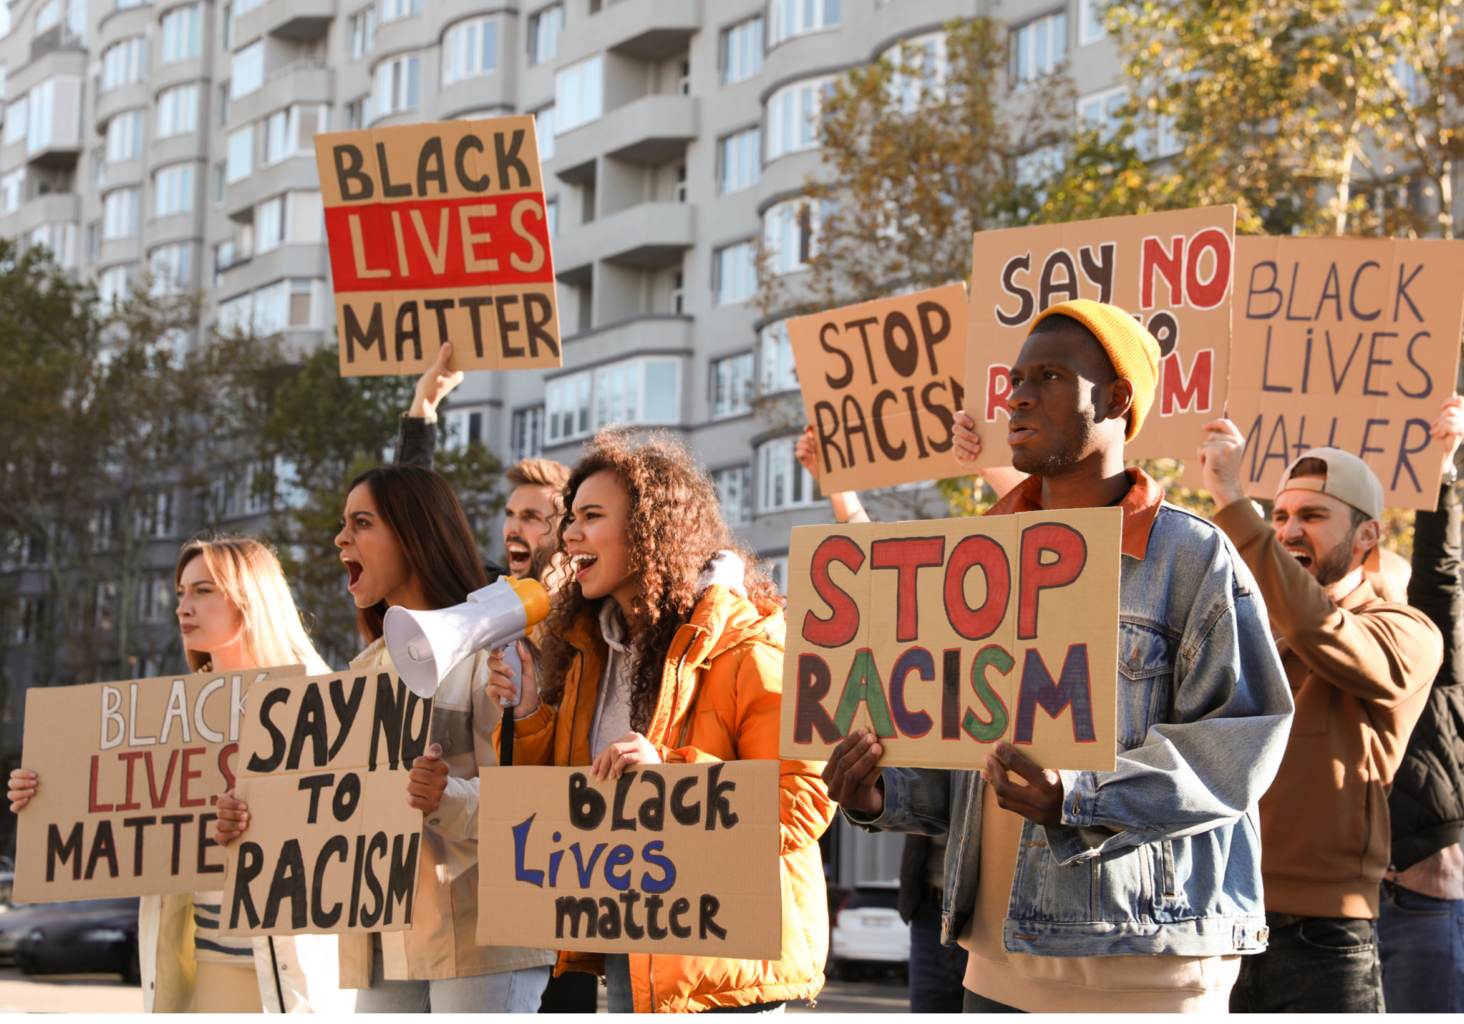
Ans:
{"label": "white megaphone with yellow-orange back end", "polygon": [[384,634],[401,681],[419,697],[432,697],[460,661],[511,645],[548,614],[549,592],[539,580],[505,576],[452,608],[388,608]]}

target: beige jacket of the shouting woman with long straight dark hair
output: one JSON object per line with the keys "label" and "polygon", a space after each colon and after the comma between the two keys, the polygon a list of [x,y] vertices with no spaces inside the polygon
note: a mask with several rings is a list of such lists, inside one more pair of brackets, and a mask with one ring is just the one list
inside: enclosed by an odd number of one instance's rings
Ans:
{"label": "beige jacket of the shouting woman with long straight dark hair", "polygon": [[[351,662],[351,668],[382,665],[391,665],[382,640]],[[442,746],[448,788],[422,829],[423,857],[411,929],[340,936],[343,989],[370,987],[373,938],[381,939],[388,980],[473,977],[555,962],[550,949],[476,942],[477,769],[498,763],[493,752],[498,719],[498,705],[488,696],[488,655],[479,652],[448,672],[432,706],[432,743]],[[401,798],[407,798],[406,791]]]}

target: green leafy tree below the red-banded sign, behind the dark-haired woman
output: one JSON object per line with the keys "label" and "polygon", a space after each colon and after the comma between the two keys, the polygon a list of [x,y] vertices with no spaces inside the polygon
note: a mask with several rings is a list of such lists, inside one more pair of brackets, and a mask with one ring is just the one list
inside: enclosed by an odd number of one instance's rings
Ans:
{"label": "green leafy tree below the red-banded sign, behind the dark-haired woman", "polygon": [[[278,467],[261,486],[274,494],[271,532],[296,601],[310,620],[321,655],[343,665],[360,649],[356,609],[346,590],[335,535],[347,485],[379,466],[411,404],[410,376],[341,376],[334,344],[283,371],[269,397],[258,456]],[[463,501],[477,542],[504,504],[502,463],[483,444],[439,448],[436,470]]]}

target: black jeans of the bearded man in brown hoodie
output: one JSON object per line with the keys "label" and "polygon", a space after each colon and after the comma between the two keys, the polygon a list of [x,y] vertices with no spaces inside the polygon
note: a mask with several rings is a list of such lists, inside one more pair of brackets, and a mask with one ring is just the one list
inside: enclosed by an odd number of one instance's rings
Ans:
{"label": "black jeans of the bearded man in brown hoodie", "polygon": [[1266,914],[1266,951],[1240,958],[1231,1014],[1383,1012],[1373,921]]}

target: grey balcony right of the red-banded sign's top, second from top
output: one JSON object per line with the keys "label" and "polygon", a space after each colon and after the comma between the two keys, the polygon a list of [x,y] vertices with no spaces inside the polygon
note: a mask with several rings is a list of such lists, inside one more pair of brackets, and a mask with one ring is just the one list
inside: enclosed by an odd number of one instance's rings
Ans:
{"label": "grey balcony right of the red-banded sign's top, second from top", "polygon": [[599,155],[662,164],[697,138],[698,113],[695,97],[641,97],[558,136],[553,166],[565,182],[580,182],[586,177],[586,166]]}

